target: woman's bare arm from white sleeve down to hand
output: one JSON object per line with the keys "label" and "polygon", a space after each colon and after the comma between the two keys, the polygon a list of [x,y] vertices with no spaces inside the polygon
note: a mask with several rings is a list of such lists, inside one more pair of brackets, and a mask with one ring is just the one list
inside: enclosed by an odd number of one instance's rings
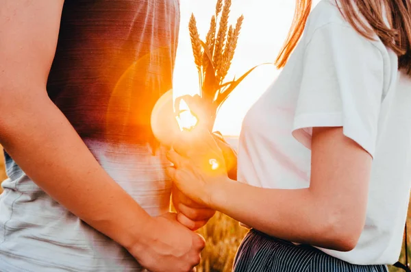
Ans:
{"label": "woman's bare arm from white sleeve down to hand", "polygon": [[[341,127],[314,128],[307,189],[248,186],[228,180],[223,172],[193,171],[192,163],[177,153],[169,158],[177,164],[177,170],[169,169],[169,174],[183,193],[256,230],[338,251],[350,251],[358,243],[365,223],[372,158],[345,137]],[[185,182],[188,178],[190,184]],[[191,188],[192,184],[199,185]]]}

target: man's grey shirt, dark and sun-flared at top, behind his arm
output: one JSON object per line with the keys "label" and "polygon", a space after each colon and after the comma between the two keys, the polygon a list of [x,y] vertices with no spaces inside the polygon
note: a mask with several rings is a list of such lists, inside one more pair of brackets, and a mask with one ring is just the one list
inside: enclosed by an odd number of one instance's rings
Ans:
{"label": "man's grey shirt, dark and sun-flared at top, behind his arm", "polygon": [[[171,88],[178,29],[178,0],[66,1],[47,84],[105,171],[151,215],[170,204],[167,160],[152,149],[149,115]],[[1,271],[140,271],[125,249],[5,158]]]}

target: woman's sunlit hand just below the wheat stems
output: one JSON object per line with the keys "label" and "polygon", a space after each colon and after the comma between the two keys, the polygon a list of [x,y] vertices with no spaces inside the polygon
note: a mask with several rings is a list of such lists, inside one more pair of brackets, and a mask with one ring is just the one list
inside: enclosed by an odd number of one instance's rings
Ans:
{"label": "woman's sunlit hand just below the wheat stems", "polygon": [[213,193],[228,180],[225,158],[214,136],[201,127],[182,132],[167,158],[173,163],[167,173],[177,188],[193,201],[210,207]]}

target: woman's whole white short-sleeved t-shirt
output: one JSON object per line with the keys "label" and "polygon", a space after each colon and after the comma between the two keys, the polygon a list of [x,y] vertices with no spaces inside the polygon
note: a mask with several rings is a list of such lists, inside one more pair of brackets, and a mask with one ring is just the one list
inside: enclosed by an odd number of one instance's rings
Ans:
{"label": "woman's whole white short-sleeved t-shirt", "polygon": [[253,186],[308,188],[312,127],[343,127],[373,156],[358,245],[321,249],[353,264],[393,264],[401,250],[411,184],[411,78],[397,67],[381,40],[362,37],[333,0],[323,0],[242,125],[238,180]]}

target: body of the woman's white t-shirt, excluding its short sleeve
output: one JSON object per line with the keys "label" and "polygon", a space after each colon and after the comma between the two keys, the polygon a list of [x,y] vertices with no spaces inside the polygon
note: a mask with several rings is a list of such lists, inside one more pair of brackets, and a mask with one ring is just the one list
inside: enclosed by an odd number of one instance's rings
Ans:
{"label": "body of the woman's white t-shirt, excluding its short sleeve", "polygon": [[[241,182],[263,188],[310,186],[310,149],[292,134],[297,122],[297,103],[301,99],[303,66],[307,65],[304,64],[304,54],[310,38],[329,25],[338,25],[341,29],[351,27],[332,2],[323,0],[313,10],[305,34],[288,64],[245,117],[238,153],[238,178]],[[354,264],[392,264],[399,257],[410,193],[411,79],[397,71],[396,55],[381,41],[371,43],[382,55],[384,90],[377,122],[366,224],[353,251],[321,250]],[[349,50],[355,52],[356,48]],[[316,61],[321,65],[324,60]],[[327,63],[332,63],[332,60]],[[349,71],[351,67],[343,69]],[[321,74],[314,77],[310,79],[312,82],[331,80]],[[310,134],[300,130],[303,134]]]}

